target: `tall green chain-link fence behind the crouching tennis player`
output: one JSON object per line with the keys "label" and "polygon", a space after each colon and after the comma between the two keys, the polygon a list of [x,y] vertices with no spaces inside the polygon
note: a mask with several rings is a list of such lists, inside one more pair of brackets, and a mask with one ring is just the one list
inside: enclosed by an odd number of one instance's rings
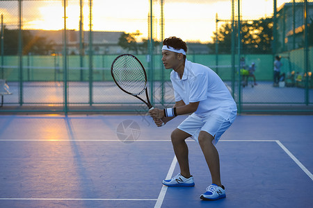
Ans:
{"label": "tall green chain-link fence behind the crouching tennis player", "polygon": [[188,60],[218,73],[239,112],[313,112],[313,2],[258,4],[0,0],[0,79],[10,87],[0,94],[12,93],[0,112],[146,112],[113,83],[111,63],[122,53],[143,62],[150,100],[168,107],[175,98],[160,53],[169,36],[187,42]]}

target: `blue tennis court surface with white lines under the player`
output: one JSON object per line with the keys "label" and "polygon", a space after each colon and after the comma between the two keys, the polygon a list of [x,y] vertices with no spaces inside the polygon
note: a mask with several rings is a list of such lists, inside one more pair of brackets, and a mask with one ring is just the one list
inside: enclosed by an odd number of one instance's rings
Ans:
{"label": "blue tennis court surface with white lines under the player", "polygon": [[[238,116],[217,144],[227,197],[202,201],[211,177],[188,139],[195,187],[170,132],[136,115],[1,115],[0,207],[311,207],[313,116]],[[128,127],[128,128],[127,128]]]}

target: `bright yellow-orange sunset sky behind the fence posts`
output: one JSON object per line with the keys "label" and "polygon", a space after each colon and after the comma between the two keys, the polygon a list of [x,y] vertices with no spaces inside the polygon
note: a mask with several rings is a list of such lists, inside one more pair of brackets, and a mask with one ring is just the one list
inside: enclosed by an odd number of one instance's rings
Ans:
{"label": "bright yellow-orange sunset sky behind the fence posts", "polygon": [[[61,30],[63,1],[22,1],[23,28]],[[161,39],[161,0],[154,1],[154,37]],[[163,0],[164,36],[177,36],[186,41],[209,42],[219,19],[231,19],[231,0]],[[235,1],[237,2],[237,1]],[[278,0],[278,8],[283,3]],[[93,31],[125,31],[143,33],[147,37],[150,0],[93,0]],[[273,15],[273,0],[242,0],[243,19],[259,19]],[[236,8],[237,12],[237,8]],[[17,3],[0,1],[4,24],[17,26]],[[222,24],[220,22],[219,24]],[[79,30],[79,0],[68,1],[67,28]],[[89,30],[89,3],[83,4],[83,28]]]}

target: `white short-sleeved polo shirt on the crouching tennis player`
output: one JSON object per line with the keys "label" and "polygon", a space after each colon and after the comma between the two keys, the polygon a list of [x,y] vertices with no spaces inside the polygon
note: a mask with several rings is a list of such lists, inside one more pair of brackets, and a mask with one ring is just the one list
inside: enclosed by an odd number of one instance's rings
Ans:
{"label": "white short-sleeved polo shirt on the crouching tennis player", "polygon": [[170,80],[175,92],[175,101],[195,103],[200,101],[197,116],[218,114],[232,123],[236,117],[236,103],[223,80],[209,67],[186,60],[182,79],[171,71]]}

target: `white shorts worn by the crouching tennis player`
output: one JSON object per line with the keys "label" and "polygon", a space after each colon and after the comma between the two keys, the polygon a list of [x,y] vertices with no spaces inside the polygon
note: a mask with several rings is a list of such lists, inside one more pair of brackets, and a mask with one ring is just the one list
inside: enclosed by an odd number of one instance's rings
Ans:
{"label": "white shorts worn by the crouching tennis player", "polygon": [[[234,121],[236,113],[233,114],[233,116],[231,121]],[[218,114],[211,114],[203,118],[196,114],[191,114],[177,128],[191,135],[191,138],[197,142],[199,142],[198,137],[200,131],[208,132],[214,137],[213,144],[215,145],[218,143],[223,133],[230,128],[230,125],[232,125],[230,119],[224,119]]]}

